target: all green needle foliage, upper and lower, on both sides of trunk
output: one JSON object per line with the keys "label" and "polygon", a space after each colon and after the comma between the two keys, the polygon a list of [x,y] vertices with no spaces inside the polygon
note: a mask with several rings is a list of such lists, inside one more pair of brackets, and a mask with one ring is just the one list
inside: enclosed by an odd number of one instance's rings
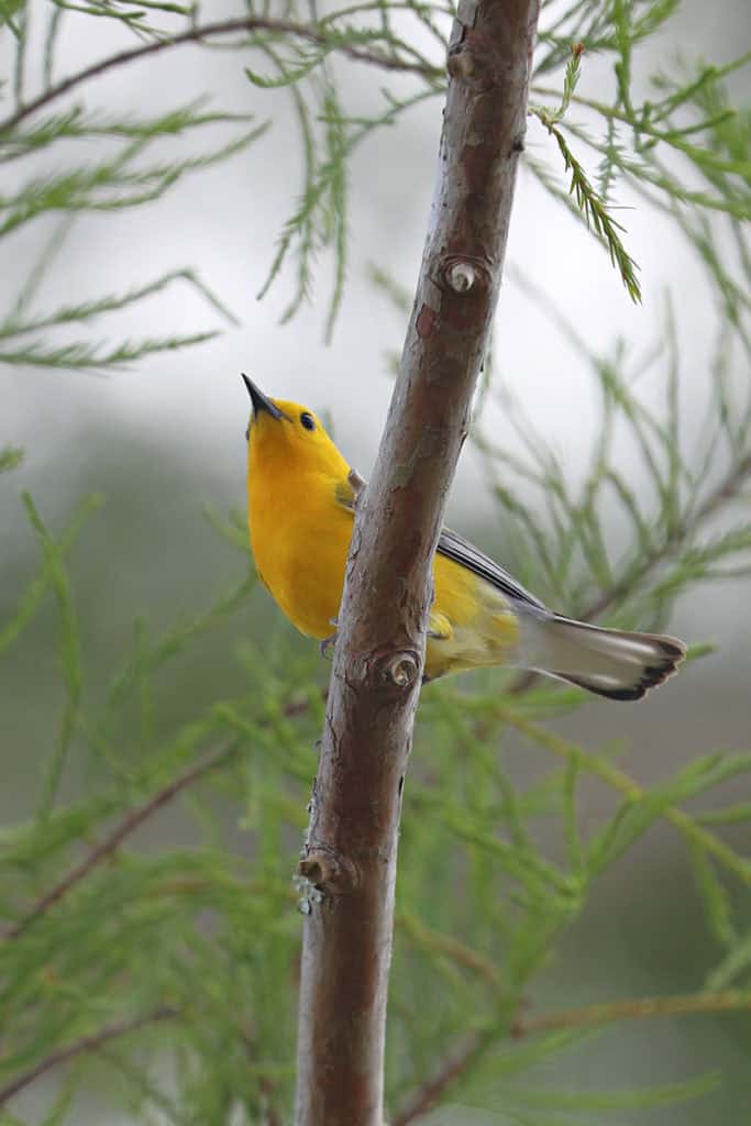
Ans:
{"label": "all green needle foliage, upper and lower, on both sides of trunk", "polygon": [[[751,479],[751,392],[737,377],[751,364],[751,117],[734,110],[727,87],[749,59],[723,68],[665,62],[645,97],[635,59],[645,39],[670,29],[676,8],[669,0],[544,5],[531,107],[544,145],[530,145],[525,161],[604,245],[635,301],[638,268],[614,200],[636,197],[669,217],[706,271],[717,324],[710,370],[699,384],[688,366],[672,298],[646,356],[624,340],[597,352],[517,271],[512,284],[589,366],[598,435],[573,482],[490,361],[474,428],[504,562],[572,614],[642,628],[664,627],[682,596],[751,571],[751,526],[737,518]],[[329,258],[331,332],[347,280],[349,160],[421,101],[436,99],[438,111],[453,15],[450,3],[403,0],[318,12],[249,3],[209,25],[197,5],[48,0],[29,15],[23,0],[2,0],[14,66],[2,86],[0,240],[8,248],[45,216],[59,224],[0,315],[0,361],[111,370],[211,339],[211,323],[160,339],[110,338],[118,314],[172,286],[233,323],[188,267],[125,293],[42,304],[42,284],[54,278],[86,214],[147,206],[181,178],[231,161],[269,127],[205,101],[147,117],[91,108],[93,74],[57,77],[59,41],[73,20],[117,21],[128,33],[125,51],[140,57],[188,42],[225,50],[265,91],[271,120],[274,99],[286,91],[302,178],[263,292],[286,279],[289,320]],[[37,18],[44,59],[41,92],[32,95]],[[581,92],[594,59],[610,74],[598,99]],[[129,63],[102,60],[98,72],[120,65]],[[369,113],[348,106],[342,73],[350,66],[388,82]],[[176,159],[176,138],[196,150]],[[87,141],[96,144],[79,146]],[[373,277],[397,309],[409,305],[387,271]],[[705,405],[698,439],[685,432],[688,394]],[[484,410],[494,400],[504,428],[491,438]],[[624,443],[638,479],[623,468]],[[15,446],[0,448],[3,489],[14,488],[20,461]],[[290,873],[307,822],[328,669],[283,623],[263,627],[266,596],[244,517],[211,510],[207,535],[235,553],[235,584],[162,633],[136,620],[120,638],[117,667],[100,676],[96,623],[71,561],[86,555],[82,534],[96,527],[101,503],[86,498],[55,529],[32,497],[19,499],[38,564],[0,609],[0,676],[43,636],[60,677],[56,713],[42,716],[37,792],[0,830],[0,1124],[75,1121],[82,1096],[102,1082],[108,1102],[134,1121],[275,1126],[288,1120],[294,1085],[296,905],[305,904]],[[176,707],[170,687],[190,662],[208,676],[200,661],[209,646],[224,654],[230,687],[209,698],[181,692]],[[710,651],[697,643],[689,656]],[[641,1123],[681,1100],[712,1108],[724,1082],[714,1070],[687,1065],[676,1074],[665,1064],[652,1088],[628,1089],[624,1074],[617,1089],[576,1091],[555,1071],[606,1028],[622,1036],[627,1022],[751,1008],[751,804],[741,792],[751,753],[713,748],[643,785],[618,762],[619,748],[561,734],[558,720],[571,730],[582,704],[575,689],[509,672],[426,688],[404,793],[387,1044],[392,1126],[452,1102],[497,1110],[499,1123],[519,1126]],[[531,763],[521,779],[520,749]],[[592,794],[605,795],[597,807]],[[704,978],[694,992],[668,984],[656,997],[598,997],[549,1011],[539,1001],[545,974],[572,926],[582,926],[604,877],[651,847],[665,824],[694,878],[710,951]],[[155,843],[160,826],[168,846]],[[682,940],[677,933],[676,946]],[[44,1081],[45,1098],[26,1100]]]}

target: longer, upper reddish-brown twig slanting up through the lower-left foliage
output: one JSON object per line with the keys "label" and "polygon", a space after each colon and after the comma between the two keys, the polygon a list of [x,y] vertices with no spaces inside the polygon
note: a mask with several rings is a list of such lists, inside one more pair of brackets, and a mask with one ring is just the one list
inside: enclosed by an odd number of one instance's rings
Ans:
{"label": "longer, upper reddish-brown twig slanting up through the lower-left foliage", "polygon": [[110,856],[125,838],[129,837],[144,821],[157,813],[158,810],[161,810],[162,806],[167,805],[168,802],[171,802],[187,786],[191,786],[211,770],[223,766],[227,759],[236,753],[239,747],[240,743],[232,743],[230,747],[223,747],[220,751],[207,756],[184,774],[178,775],[169,785],[163,786],[162,789],[154,794],[153,797],[150,797],[147,802],[144,802],[143,805],[126,813],[98,844],[87,852],[54,887],[45,892],[34,906],[0,937],[5,940],[17,938],[30,923],[35,922],[43,914],[46,914],[50,908],[66,895],[84,876],[88,876],[92,868]]}

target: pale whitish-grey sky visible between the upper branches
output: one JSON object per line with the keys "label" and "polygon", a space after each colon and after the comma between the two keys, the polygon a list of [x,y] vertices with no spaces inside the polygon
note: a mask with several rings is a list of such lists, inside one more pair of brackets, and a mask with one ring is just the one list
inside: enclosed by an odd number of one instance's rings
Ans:
{"label": "pale whitish-grey sky visible between the upper branches", "polygon": [[[636,64],[638,78],[654,70],[658,56],[682,54],[690,60],[730,57],[736,33],[748,16],[732,5],[728,18],[707,20],[706,8],[687,3],[683,15],[650,45]],[[38,6],[37,6],[38,9]],[[35,9],[33,9],[35,10]],[[204,19],[236,14],[225,3],[204,7]],[[737,28],[733,23],[733,14]],[[81,34],[81,29],[84,33]],[[32,21],[29,91],[38,72],[42,21]],[[735,33],[735,34],[734,34]],[[57,53],[57,77],[84,63],[132,45],[132,37],[107,20],[71,17]],[[7,50],[7,44],[6,44]],[[383,75],[370,68],[337,63],[345,79],[349,109],[373,105]],[[391,81],[391,79],[390,79]],[[600,60],[583,61],[582,92],[601,92],[609,68]],[[401,88],[410,87],[401,80]],[[242,430],[247,403],[238,373],[248,369],[271,394],[295,397],[316,410],[330,411],[337,436],[349,458],[367,474],[385,417],[391,381],[384,351],[400,349],[403,324],[367,279],[373,261],[387,268],[405,287],[417,276],[432,190],[440,124],[439,101],[410,111],[396,127],[366,142],[351,164],[349,217],[349,280],[331,347],[322,341],[322,323],[330,293],[330,262],[322,258],[312,306],[286,327],[278,324],[290,286],[288,270],[261,303],[254,300],[277,235],[294,206],[299,184],[296,123],[284,91],[261,91],[245,80],[242,60],[225,52],[184,47],[149,62],[122,68],[83,88],[90,105],[113,115],[149,114],[214,92],[212,105],[272,116],[274,128],[247,153],[229,164],[186,178],[152,206],[83,217],[75,222],[41,305],[84,300],[104,292],[123,292],[176,266],[195,266],[206,283],[242,321],[240,328],[203,347],[146,360],[133,369],[104,378],[77,373],[0,370],[3,410],[0,437],[23,445],[26,467],[11,491],[28,484],[38,493],[73,494],[82,484],[96,486],[97,443],[117,443],[127,458],[128,440],[144,444],[154,465],[178,458],[185,463],[185,489],[202,491],[217,503],[242,503]],[[576,118],[576,111],[572,111]],[[216,131],[214,131],[216,133]],[[209,141],[211,131],[207,134]],[[188,142],[196,145],[194,137]],[[97,142],[70,143],[66,153],[95,151]],[[527,145],[545,155],[562,176],[554,143],[539,124],[529,122]],[[176,146],[177,148],[177,146]],[[181,144],[180,151],[186,151]],[[162,150],[172,151],[172,150]],[[60,160],[62,146],[54,161]],[[10,177],[20,166],[9,167]],[[498,322],[498,364],[521,396],[542,431],[551,437],[575,475],[581,455],[598,425],[598,403],[591,374],[551,325],[539,307],[513,283],[521,268],[554,300],[590,346],[613,349],[617,336],[643,352],[661,334],[664,292],[670,287],[677,307],[683,355],[683,403],[689,428],[700,426],[707,392],[707,361],[715,340],[715,320],[707,302],[700,267],[676,232],[644,207],[627,189],[617,194],[625,209],[627,245],[641,266],[644,304],[635,307],[607,256],[582,227],[556,206],[530,173],[519,180],[507,258],[507,282]],[[3,243],[10,265],[0,275],[0,301],[14,293],[19,271],[33,260],[51,224],[33,224]],[[110,318],[95,329],[98,337],[166,334],[216,324],[213,312],[184,285]],[[696,388],[696,395],[692,394]],[[656,391],[656,383],[655,383]],[[500,410],[485,419],[489,431],[506,437]],[[690,432],[690,430],[689,430]],[[115,452],[110,445],[110,455]],[[627,467],[633,452],[624,447]],[[7,492],[7,490],[6,490]],[[458,471],[450,519],[459,527],[490,501],[479,461],[467,447]],[[20,519],[10,513],[11,524]],[[14,547],[11,546],[11,551]],[[697,610],[697,628],[713,625],[715,611]],[[718,598],[723,632],[736,622],[736,608]],[[713,627],[714,628],[714,627]]]}

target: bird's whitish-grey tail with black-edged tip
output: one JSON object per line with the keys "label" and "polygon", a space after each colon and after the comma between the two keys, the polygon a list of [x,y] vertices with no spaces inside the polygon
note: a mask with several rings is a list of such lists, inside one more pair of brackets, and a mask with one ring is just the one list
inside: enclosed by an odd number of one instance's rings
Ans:
{"label": "bird's whitish-grey tail with black-edged tip", "polygon": [[686,656],[676,637],[604,629],[557,614],[535,616],[529,626],[533,668],[611,700],[641,699]]}

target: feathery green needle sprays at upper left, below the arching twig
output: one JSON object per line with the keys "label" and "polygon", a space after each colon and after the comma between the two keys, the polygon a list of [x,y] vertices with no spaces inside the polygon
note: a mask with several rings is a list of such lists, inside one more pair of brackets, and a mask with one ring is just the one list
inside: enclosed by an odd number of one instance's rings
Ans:
{"label": "feathery green needle sprays at upper left, below the arching twig", "polygon": [[[19,44],[19,53],[21,50]],[[87,114],[77,107],[53,113],[41,120],[33,118],[28,126],[25,122],[11,128],[3,128],[0,124],[0,162],[9,166],[9,176],[10,169],[15,171],[21,160],[26,164],[34,161],[37,166],[42,161],[47,168],[53,168],[48,162],[63,150],[66,141],[96,141],[95,151],[108,153],[105,159],[79,167],[69,166],[65,171],[21,173],[15,190],[0,195],[0,242],[10,240],[36,220],[55,214],[64,216],[19,287],[14,306],[0,315],[0,364],[117,370],[157,352],[204,343],[216,336],[216,329],[157,339],[122,340],[118,343],[105,343],[91,338],[105,315],[135,306],[179,283],[189,286],[222,320],[236,323],[233,314],[224,309],[190,268],[170,270],[129,293],[98,296],[52,311],[33,311],[42,283],[70,238],[77,215],[118,212],[158,200],[185,176],[244,151],[268,126],[267,123],[249,127],[248,117],[206,113],[203,105],[198,101],[151,119],[110,119],[102,114]],[[229,127],[236,135],[224,144],[214,144],[197,155],[179,161],[145,160],[160,141],[173,141],[217,127]],[[71,340],[66,333],[64,342],[55,342],[61,330],[73,328],[87,336]]]}

